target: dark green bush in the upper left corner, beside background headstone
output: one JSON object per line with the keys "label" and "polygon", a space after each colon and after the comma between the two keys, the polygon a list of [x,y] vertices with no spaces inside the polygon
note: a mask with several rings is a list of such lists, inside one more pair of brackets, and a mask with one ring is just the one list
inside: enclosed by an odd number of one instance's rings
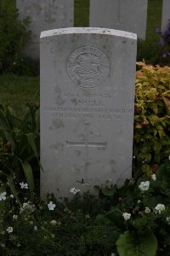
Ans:
{"label": "dark green bush in the upper left corner, beside background headstone", "polygon": [[14,1],[0,1],[0,72],[16,71],[22,62],[23,49],[30,38],[29,20],[19,20]]}

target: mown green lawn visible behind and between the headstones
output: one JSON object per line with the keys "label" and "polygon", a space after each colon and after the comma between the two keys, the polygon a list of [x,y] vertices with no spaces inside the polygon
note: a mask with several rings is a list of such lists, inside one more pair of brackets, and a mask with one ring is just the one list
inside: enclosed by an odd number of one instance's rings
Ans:
{"label": "mown green lawn visible behind and between the headstones", "polygon": [[[14,4],[15,0],[11,0]],[[161,26],[162,0],[149,0],[147,38],[157,40],[156,27]],[[88,26],[89,0],[75,0],[75,26]],[[27,101],[39,100],[39,77],[0,75],[0,102],[20,108]]]}

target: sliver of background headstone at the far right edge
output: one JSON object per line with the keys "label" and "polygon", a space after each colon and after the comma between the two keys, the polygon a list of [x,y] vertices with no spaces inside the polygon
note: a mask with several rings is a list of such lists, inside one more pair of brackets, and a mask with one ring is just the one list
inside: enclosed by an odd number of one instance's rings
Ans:
{"label": "sliver of background headstone at the far right edge", "polygon": [[165,32],[170,20],[170,0],[163,0],[161,13],[161,32]]}

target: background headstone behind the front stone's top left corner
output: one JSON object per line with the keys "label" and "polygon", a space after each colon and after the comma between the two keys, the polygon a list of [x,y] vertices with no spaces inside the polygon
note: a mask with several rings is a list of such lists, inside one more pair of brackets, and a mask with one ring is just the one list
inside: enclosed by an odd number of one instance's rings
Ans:
{"label": "background headstone behind the front stone's top left corner", "polygon": [[20,19],[30,17],[31,42],[26,54],[37,61],[42,31],[73,26],[74,0],[16,0],[16,6]]}

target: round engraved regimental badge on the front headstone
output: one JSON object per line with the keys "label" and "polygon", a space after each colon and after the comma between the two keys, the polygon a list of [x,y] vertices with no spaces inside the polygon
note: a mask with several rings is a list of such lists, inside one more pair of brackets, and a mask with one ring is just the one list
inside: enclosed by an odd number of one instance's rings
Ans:
{"label": "round engraved regimental badge on the front headstone", "polygon": [[108,57],[94,47],[76,49],[68,58],[67,73],[80,87],[93,88],[105,82],[110,71]]}

